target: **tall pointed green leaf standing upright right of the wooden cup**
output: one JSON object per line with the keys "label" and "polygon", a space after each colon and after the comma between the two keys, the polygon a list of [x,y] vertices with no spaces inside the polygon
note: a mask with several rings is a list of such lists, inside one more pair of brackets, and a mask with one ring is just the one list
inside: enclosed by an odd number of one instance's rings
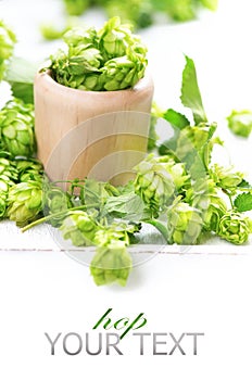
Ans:
{"label": "tall pointed green leaf standing upright right of the wooden cup", "polygon": [[181,102],[193,114],[196,124],[207,122],[198,86],[194,62],[186,55],[186,66],[182,72]]}

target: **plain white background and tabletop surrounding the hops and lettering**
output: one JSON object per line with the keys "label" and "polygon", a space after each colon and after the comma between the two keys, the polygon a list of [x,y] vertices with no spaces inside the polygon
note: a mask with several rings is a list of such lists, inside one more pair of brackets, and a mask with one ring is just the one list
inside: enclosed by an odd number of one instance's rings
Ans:
{"label": "plain white background and tabletop surrounding the hops and lettering", "polygon": [[[236,165],[251,174],[251,139],[230,136],[225,116],[232,107],[252,109],[252,9],[249,0],[219,2],[216,14],[203,13],[198,22],[141,34],[156,101],[180,106],[182,53],[193,58],[209,118],[218,122]],[[37,26],[49,16],[55,21],[59,8],[56,1],[0,1],[0,17],[18,36],[17,53],[40,59],[54,51],[56,43],[39,42]],[[101,24],[102,16],[91,13],[89,21]],[[216,241],[214,250],[202,246],[198,254],[155,255],[134,268],[125,289],[96,287],[88,267],[59,252],[47,228],[21,235],[1,223],[0,244],[1,379],[251,379],[251,244],[239,249]],[[142,331],[204,332],[199,355],[188,350],[186,356],[153,356],[149,343],[140,356],[128,337],[124,356],[66,356],[62,344],[50,356],[45,332],[84,337],[109,307],[117,319],[144,313]]]}

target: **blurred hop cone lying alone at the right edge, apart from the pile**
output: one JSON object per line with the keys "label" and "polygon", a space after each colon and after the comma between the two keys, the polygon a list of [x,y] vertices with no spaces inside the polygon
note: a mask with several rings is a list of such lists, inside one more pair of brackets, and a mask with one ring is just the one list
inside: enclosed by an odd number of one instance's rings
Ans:
{"label": "blurred hop cone lying alone at the right edge, apart from the pile", "polygon": [[252,131],[252,112],[232,111],[227,117],[228,128],[237,136],[249,137]]}

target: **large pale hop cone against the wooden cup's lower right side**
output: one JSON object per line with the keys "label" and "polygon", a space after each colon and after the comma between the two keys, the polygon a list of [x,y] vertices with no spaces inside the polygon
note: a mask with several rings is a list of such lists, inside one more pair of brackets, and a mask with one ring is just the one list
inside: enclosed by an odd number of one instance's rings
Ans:
{"label": "large pale hop cone against the wooden cup's lower right side", "polygon": [[135,192],[144,203],[154,212],[168,205],[175,193],[175,183],[167,170],[167,163],[159,162],[159,159],[149,155],[135,167],[135,170],[137,172],[134,181]]}

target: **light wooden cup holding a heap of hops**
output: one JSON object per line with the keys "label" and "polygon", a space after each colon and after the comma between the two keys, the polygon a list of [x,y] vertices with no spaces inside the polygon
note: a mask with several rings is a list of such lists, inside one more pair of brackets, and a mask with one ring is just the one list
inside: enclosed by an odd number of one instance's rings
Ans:
{"label": "light wooden cup holding a heap of hops", "polygon": [[119,91],[83,91],[35,78],[38,159],[52,180],[93,177],[123,185],[147,151],[153,98],[150,75]]}

